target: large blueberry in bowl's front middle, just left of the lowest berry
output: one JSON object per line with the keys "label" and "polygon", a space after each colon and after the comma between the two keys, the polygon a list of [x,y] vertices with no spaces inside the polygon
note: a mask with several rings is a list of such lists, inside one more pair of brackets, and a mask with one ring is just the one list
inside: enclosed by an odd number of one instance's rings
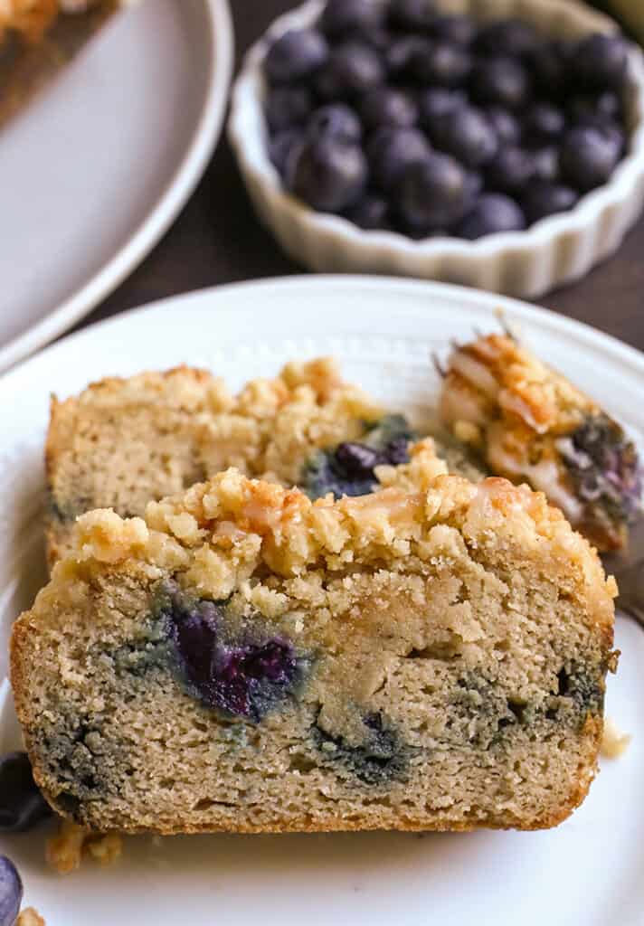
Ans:
{"label": "large blueberry in bowl's front middle, just left of the lowest berry", "polygon": [[422,163],[410,165],[402,175],[398,208],[410,230],[449,228],[463,218],[472,202],[467,171],[448,155],[434,154]]}

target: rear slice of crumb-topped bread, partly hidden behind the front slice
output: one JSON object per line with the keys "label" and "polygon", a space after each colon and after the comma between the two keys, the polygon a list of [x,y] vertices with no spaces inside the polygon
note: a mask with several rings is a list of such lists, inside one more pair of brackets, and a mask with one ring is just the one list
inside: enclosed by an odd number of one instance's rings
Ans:
{"label": "rear slice of crumb-topped bread, partly hidden behind the front slice", "polygon": [[[378,484],[378,467],[407,462],[414,436],[403,416],[386,415],[328,358],[289,363],[235,396],[207,371],[188,367],[95,382],[51,404],[50,564],[84,511],[143,515],[148,501],[229,466],[299,485],[311,498],[363,494]],[[481,477],[458,446],[438,449],[450,469]]]}

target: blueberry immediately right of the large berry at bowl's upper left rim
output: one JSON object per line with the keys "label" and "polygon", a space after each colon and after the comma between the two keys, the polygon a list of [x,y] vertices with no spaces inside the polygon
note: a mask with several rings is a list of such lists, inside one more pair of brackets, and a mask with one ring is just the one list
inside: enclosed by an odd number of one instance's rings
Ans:
{"label": "blueberry immediately right of the large berry at bowl's upper left rim", "polygon": [[335,101],[365,94],[384,80],[385,66],[373,48],[345,42],[332,49],[316,76],[315,89],[323,99]]}

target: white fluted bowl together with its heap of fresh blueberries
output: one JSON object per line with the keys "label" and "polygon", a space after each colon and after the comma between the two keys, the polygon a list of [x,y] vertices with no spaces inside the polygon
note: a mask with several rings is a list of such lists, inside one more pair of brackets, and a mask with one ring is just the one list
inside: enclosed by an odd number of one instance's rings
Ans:
{"label": "white fluted bowl together with its heap of fresh blueberries", "polygon": [[310,269],[537,296],[644,205],[644,61],[576,0],[310,0],[246,56],[229,137]]}

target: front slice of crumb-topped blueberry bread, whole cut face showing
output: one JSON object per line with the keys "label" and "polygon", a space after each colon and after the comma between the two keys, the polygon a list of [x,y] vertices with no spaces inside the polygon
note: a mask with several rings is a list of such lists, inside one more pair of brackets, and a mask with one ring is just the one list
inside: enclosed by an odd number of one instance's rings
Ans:
{"label": "front slice of crumb-topped blueberry bread, whole cut face showing", "polygon": [[145,520],[83,515],[11,643],[52,806],[166,833],[567,817],[614,582],[543,494],[427,478],[312,502],[230,469]]}

